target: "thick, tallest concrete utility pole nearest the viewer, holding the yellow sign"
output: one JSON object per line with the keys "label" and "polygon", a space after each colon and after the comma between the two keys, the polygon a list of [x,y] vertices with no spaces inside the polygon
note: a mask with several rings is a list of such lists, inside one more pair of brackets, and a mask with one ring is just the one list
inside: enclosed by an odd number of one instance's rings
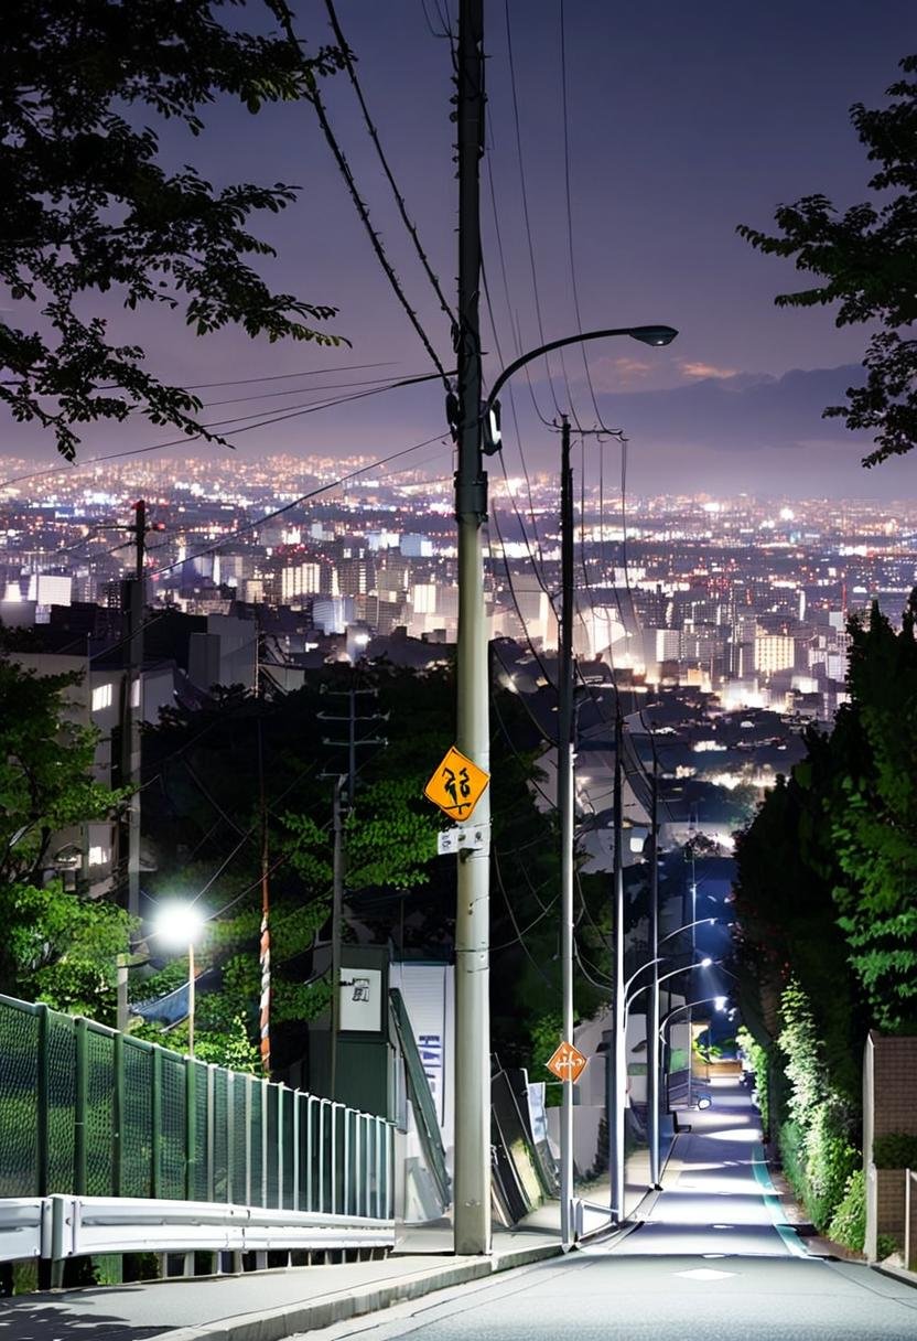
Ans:
{"label": "thick, tallest concrete utility pole nearest the viewer, holding the yellow sign", "polygon": [[[458,750],[491,770],[488,642],[481,526],[480,158],[484,153],[484,5],[458,5],[458,369],[456,520],[458,523]],[[491,799],[475,809],[484,842],[458,854],[456,898],[454,1251],[491,1251]]]}

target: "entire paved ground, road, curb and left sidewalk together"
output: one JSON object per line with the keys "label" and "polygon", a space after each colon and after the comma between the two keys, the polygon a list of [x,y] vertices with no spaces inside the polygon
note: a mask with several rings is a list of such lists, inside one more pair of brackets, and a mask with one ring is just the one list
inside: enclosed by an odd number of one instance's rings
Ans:
{"label": "entire paved ground, road, curb and left sidewalk together", "polygon": [[[532,1341],[542,1330],[551,1341],[685,1341],[686,1307],[702,1320],[704,1341],[914,1341],[917,1277],[834,1259],[774,1187],[747,1093],[716,1080],[709,1093],[712,1106],[692,1112],[692,1129],[674,1140],[662,1191],[642,1199],[633,1224],[567,1257],[552,1202],[496,1230],[491,1258],[454,1257],[444,1220],[402,1228],[382,1261],[4,1299],[0,1341],[280,1341],[307,1332],[310,1341],[357,1332],[381,1341],[418,1329],[430,1332],[425,1341]],[[634,1199],[642,1177],[637,1157]],[[607,1184],[587,1196],[607,1204]],[[585,1219],[586,1230],[602,1224],[601,1211]]]}

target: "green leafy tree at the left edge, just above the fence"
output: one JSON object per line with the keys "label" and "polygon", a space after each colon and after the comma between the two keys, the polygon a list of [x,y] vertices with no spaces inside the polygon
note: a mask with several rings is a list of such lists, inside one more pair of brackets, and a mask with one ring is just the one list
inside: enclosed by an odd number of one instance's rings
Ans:
{"label": "green leafy tree at the left edge, just above the fence", "polygon": [[0,991],[105,1021],[127,915],[47,878],[54,835],[123,797],[93,780],[95,734],[66,697],[78,683],[0,657]]}

